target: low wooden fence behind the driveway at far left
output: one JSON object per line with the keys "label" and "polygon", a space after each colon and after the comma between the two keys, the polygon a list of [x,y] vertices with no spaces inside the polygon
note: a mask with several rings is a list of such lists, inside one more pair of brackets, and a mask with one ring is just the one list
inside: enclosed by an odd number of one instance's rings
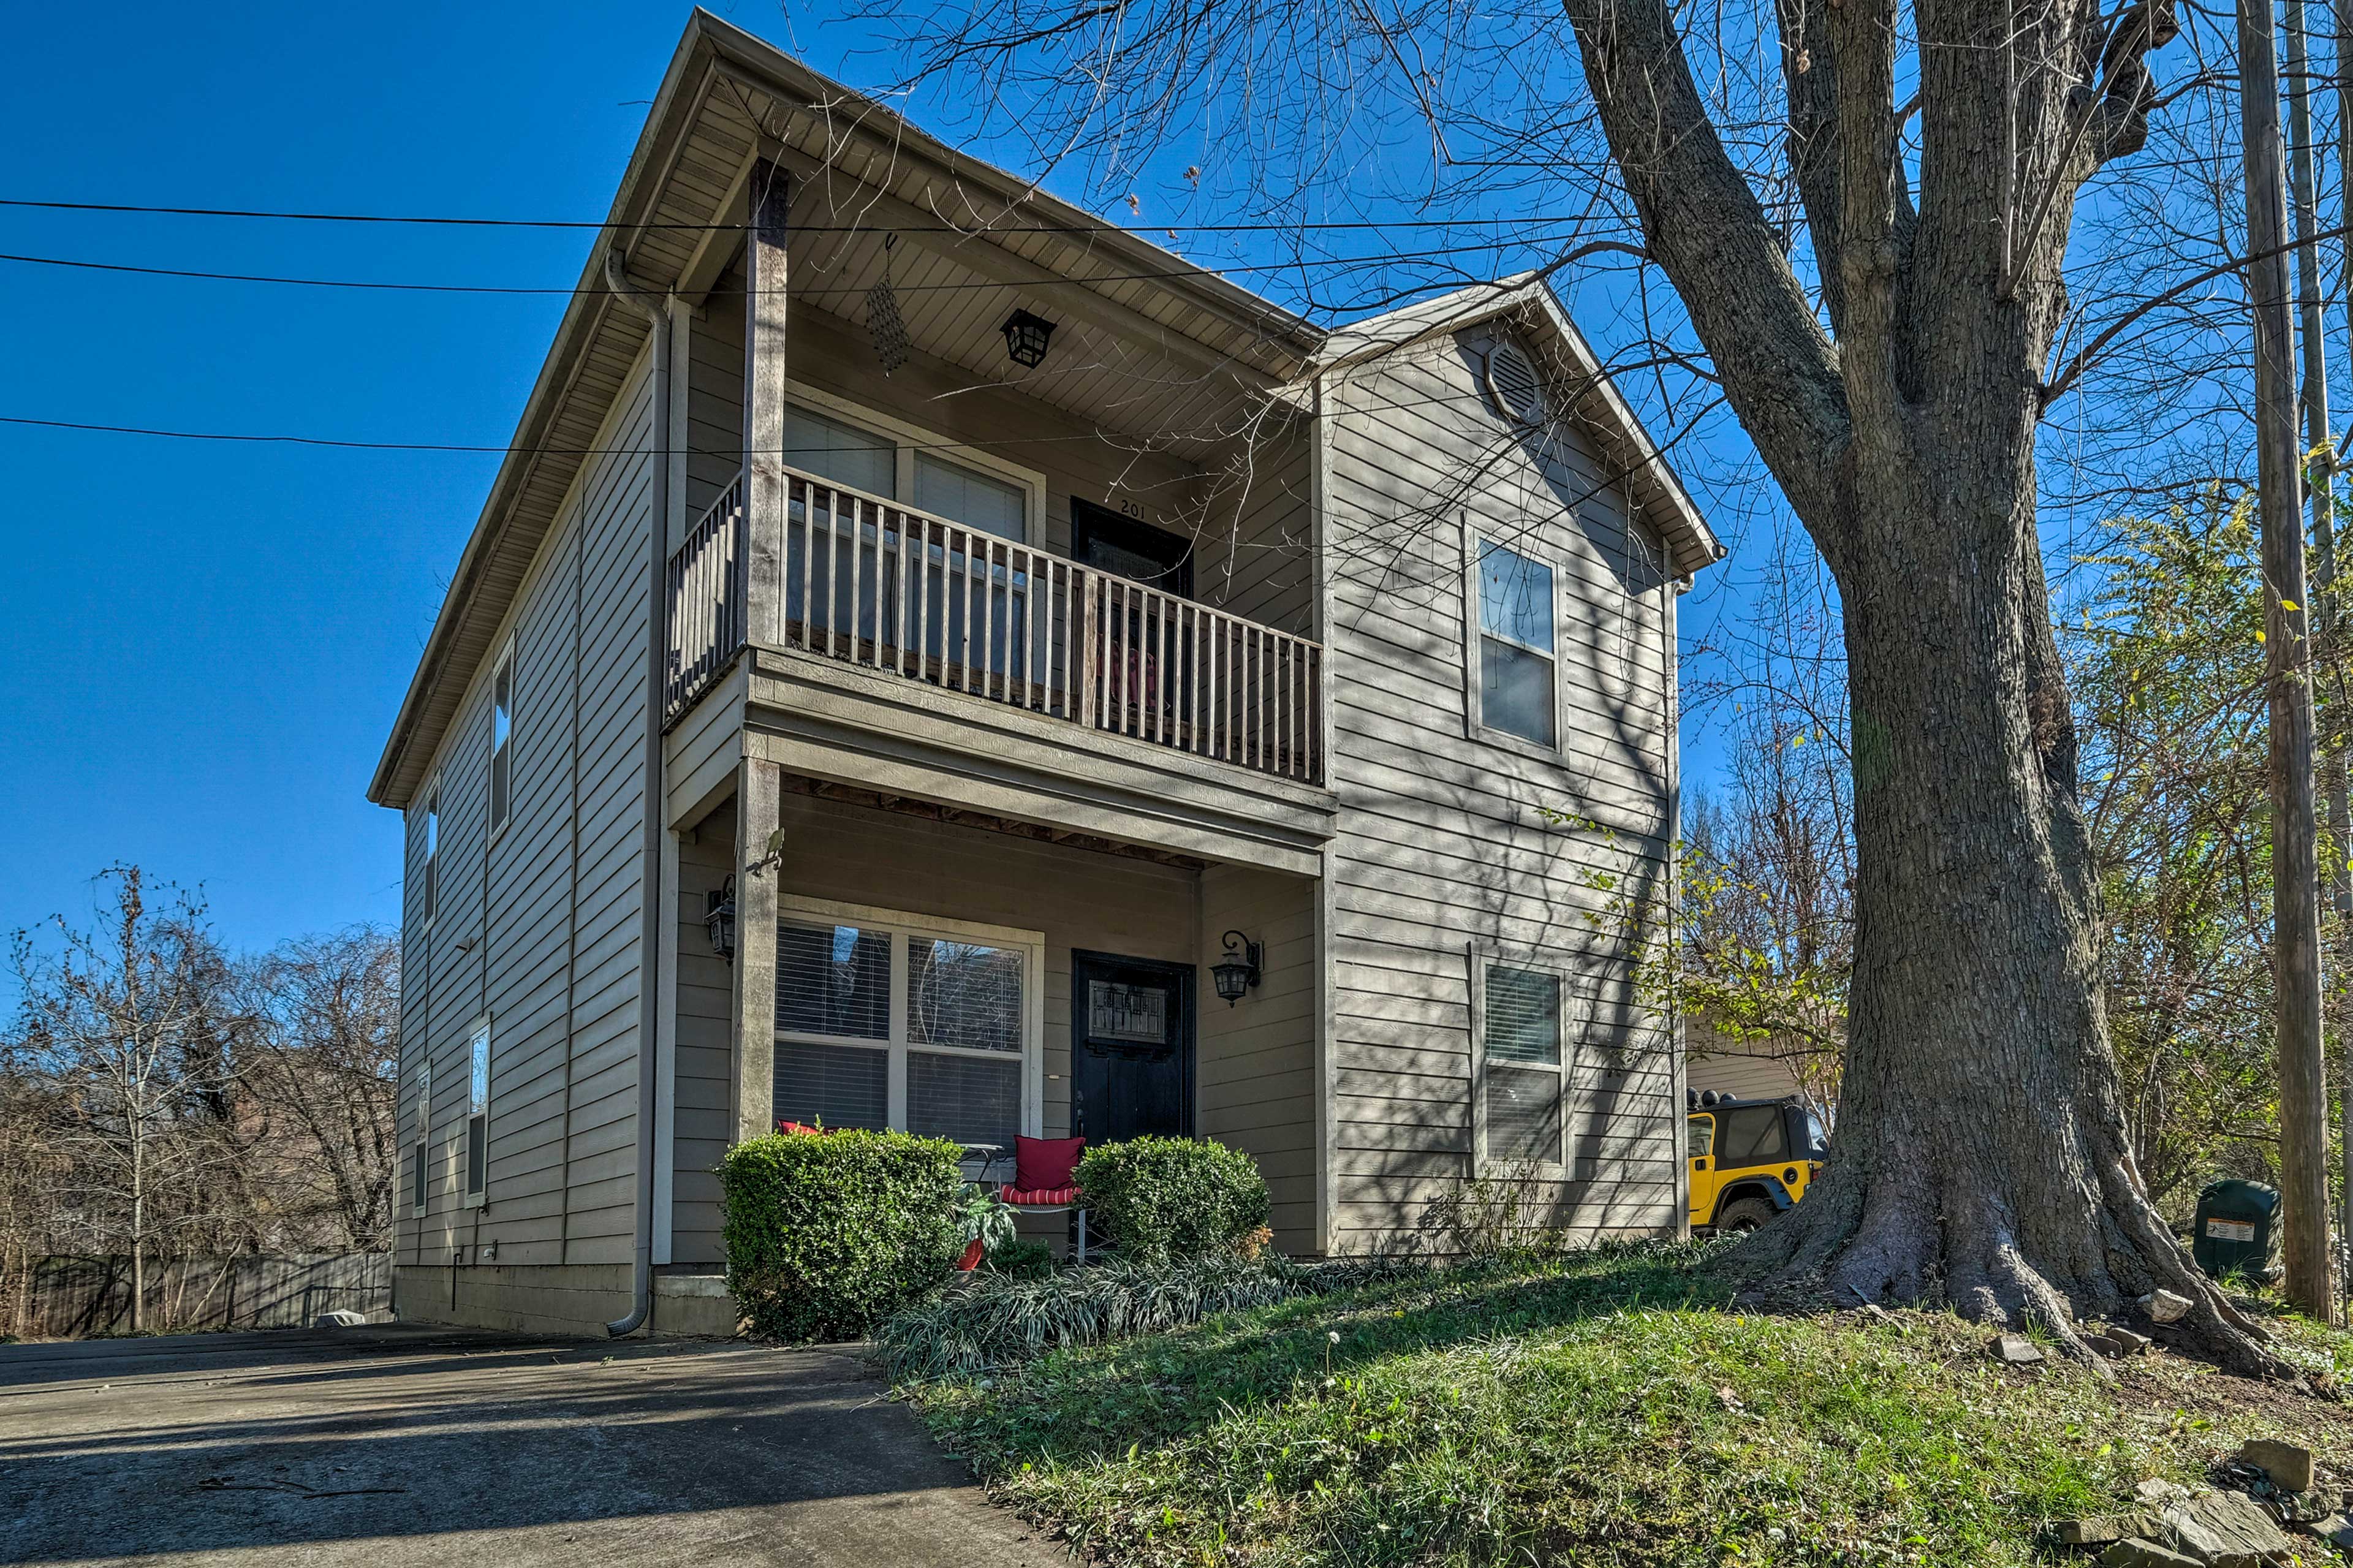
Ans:
{"label": "low wooden fence behind the driveway at far left", "polygon": [[[322,1311],[393,1304],[391,1253],[148,1260],[146,1328],[299,1328]],[[132,1326],[129,1257],[35,1257],[0,1281],[0,1330],[85,1340]]]}

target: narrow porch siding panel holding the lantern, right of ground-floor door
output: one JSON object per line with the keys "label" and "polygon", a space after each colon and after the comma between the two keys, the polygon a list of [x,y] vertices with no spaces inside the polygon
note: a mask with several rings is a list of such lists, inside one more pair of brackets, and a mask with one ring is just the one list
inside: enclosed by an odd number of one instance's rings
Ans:
{"label": "narrow porch siding panel holding the lantern, right of ground-floor door", "polygon": [[[1209,984],[1221,939],[1261,942],[1261,979],[1238,1003]],[[1252,866],[1200,873],[1200,1057],[1195,1132],[1266,1172],[1282,1253],[1315,1250],[1315,883]]]}

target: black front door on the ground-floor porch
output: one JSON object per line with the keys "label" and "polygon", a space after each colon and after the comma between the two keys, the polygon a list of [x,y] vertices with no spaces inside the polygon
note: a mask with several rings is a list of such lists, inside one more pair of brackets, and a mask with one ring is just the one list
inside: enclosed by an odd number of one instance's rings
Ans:
{"label": "black front door on the ground-floor porch", "polygon": [[1071,1132],[1193,1135],[1193,965],[1071,954]]}

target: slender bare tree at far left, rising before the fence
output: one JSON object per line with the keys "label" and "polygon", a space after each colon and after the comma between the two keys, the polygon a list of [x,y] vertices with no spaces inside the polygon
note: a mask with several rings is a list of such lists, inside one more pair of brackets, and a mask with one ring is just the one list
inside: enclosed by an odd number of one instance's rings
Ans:
{"label": "slender bare tree at far left, rising before the fence", "polygon": [[132,1330],[146,1328],[146,1260],[214,1215],[191,1194],[235,1163],[226,1137],[238,1041],[228,963],[193,895],[148,909],[139,866],[101,878],[96,930],[52,921],[54,944],[16,932],[21,1017],[0,1045],[47,1102],[52,1227],[132,1260]]}

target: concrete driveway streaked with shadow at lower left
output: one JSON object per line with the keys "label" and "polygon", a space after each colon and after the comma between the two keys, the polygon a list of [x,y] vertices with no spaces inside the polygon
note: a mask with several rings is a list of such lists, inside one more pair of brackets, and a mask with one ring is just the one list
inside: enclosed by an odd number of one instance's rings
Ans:
{"label": "concrete driveway streaked with shadow at lower left", "polygon": [[419,1326],[0,1347],[0,1561],[1071,1566],[852,1356]]}

